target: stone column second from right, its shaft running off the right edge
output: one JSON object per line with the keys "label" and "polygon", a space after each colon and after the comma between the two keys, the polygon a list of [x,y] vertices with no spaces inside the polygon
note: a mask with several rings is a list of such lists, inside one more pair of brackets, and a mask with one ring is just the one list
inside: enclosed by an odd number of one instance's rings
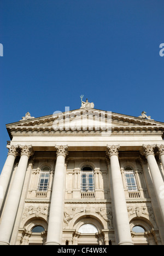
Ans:
{"label": "stone column second from right, its shaft running off the right edge", "polygon": [[161,210],[161,214],[164,222],[164,199],[162,190],[164,189],[164,182],[161,176],[161,172],[159,170],[159,166],[157,165],[155,156],[154,156],[154,148],[156,145],[143,145],[142,154],[148,160],[148,165],[150,169],[151,178],[154,184],[154,190],[156,193],[157,201],[159,202],[159,207]]}

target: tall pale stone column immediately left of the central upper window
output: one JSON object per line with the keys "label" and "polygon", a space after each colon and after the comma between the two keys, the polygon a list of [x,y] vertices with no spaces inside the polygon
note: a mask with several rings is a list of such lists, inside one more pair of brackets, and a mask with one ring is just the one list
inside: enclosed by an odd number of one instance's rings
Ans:
{"label": "tall pale stone column immediately left of the central upper window", "polygon": [[45,245],[61,245],[63,214],[65,204],[65,158],[68,146],[55,146],[57,149],[54,183],[52,187],[48,234]]}

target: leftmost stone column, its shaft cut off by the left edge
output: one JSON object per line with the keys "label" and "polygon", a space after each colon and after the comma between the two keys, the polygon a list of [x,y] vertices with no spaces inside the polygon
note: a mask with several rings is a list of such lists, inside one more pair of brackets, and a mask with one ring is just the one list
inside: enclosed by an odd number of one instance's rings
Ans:
{"label": "leftmost stone column, its shaft cut off by the left edge", "polygon": [[9,184],[11,172],[13,170],[14,161],[17,156],[17,147],[18,146],[7,146],[9,149],[7,160],[5,161],[4,167],[0,176],[0,210],[3,204],[4,196],[7,191]]}

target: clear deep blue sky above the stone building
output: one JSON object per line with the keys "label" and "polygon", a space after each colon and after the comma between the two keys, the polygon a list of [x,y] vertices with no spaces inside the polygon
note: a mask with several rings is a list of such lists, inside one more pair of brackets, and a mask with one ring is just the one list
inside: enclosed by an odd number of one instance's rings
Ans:
{"label": "clear deep blue sky above the stone building", "polygon": [[163,0],[1,0],[0,170],[5,124],[80,107],[163,121]]}

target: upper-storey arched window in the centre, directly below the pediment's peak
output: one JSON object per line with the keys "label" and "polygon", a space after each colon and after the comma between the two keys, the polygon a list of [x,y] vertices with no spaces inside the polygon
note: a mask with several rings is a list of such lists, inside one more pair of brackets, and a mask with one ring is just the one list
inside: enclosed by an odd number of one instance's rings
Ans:
{"label": "upper-storey arched window in the centre, directly below the pediment's peak", "polygon": [[94,171],[91,166],[81,168],[81,191],[95,191]]}

